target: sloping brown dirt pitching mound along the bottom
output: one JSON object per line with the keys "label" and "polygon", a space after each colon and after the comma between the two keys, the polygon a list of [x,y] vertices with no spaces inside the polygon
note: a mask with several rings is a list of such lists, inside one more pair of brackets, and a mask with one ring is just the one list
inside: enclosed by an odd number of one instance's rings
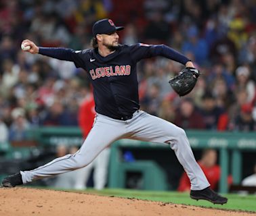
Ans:
{"label": "sloping brown dirt pitching mound along the bottom", "polygon": [[32,188],[1,188],[0,215],[255,215],[131,198]]}

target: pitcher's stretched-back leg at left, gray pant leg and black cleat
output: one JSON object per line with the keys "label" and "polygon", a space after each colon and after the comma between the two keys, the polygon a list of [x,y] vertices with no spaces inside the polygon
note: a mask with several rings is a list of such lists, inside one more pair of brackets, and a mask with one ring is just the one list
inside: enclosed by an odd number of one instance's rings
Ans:
{"label": "pitcher's stretched-back leg at left, gray pant leg and black cleat", "polygon": [[101,151],[126,134],[125,122],[98,114],[95,124],[77,153],[65,155],[33,170],[20,171],[2,181],[4,187],[15,187],[34,180],[86,167]]}

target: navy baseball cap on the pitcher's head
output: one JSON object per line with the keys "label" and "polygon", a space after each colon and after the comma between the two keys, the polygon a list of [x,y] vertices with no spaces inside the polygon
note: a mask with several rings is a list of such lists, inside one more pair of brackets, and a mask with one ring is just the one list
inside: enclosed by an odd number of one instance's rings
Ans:
{"label": "navy baseball cap on the pitcher's head", "polygon": [[97,34],[109,34],[123,29],[123,26],[115,26],[112,20],[103,19],[93,24],[93,36],[96,36]]}

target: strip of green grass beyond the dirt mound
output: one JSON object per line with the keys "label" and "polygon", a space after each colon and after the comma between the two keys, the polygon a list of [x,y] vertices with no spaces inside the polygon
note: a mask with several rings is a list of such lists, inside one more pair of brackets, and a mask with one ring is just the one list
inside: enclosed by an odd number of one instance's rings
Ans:
{"label": "strip of green grass beyond the dirt mound", "polygon": [[[45,189],[45,187],[41,187]],[[51,190],[62,190],[56,188],[47,188]],[[65,190],[69,192],[79,192],[85,194],[97,194],[101,196],[116,196],[124,198],[138,198],[141,200],[152,200],[160,202],[171,202],[175,204],[194,205],[199,207],[215,208],[215,209],[228,209],[236,211],[251,211],[256,212],[256,195],[238,195],[238,194],[225,194],[228,197],[226,205],[213,205],[206,200],[192,200],[188,193],[171,192],[171,191],[146,191],[146,190],[128,190],[128,189],[104,189],[93,190]]]}

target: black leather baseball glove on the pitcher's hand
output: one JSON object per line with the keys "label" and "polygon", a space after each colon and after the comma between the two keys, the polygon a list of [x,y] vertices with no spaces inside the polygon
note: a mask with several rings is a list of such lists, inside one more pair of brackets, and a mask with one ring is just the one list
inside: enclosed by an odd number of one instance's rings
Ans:
{"label": "black leather baseball glove on the pitcher's hand", "polygon": [[179,97],[192,91],[200,72],[196,68],[184,68],[177,76],[169,80],[169,84]]}

